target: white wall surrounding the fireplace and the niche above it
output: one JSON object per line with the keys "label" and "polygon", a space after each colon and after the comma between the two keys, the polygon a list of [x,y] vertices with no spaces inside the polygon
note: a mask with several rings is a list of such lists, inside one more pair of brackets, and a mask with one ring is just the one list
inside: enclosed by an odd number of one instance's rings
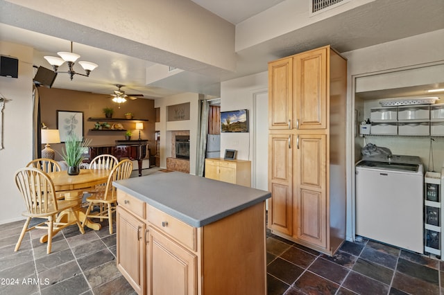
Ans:
{"label": "white wall surrounding the fireplace and the niche above it", "polygon": [[[167,107],[189,102],[189,120],[167,122]],[[189,130],[189,174],[196,175],[197,138],[199,123],[199,94],[182,93],[157,99],[154,107],[160,108],[160,122],[155,123],[160,131],[160,168],[167,168],[167,158],[171,157],[171,131]],[[191,152],[194,151],[194,152]]]}

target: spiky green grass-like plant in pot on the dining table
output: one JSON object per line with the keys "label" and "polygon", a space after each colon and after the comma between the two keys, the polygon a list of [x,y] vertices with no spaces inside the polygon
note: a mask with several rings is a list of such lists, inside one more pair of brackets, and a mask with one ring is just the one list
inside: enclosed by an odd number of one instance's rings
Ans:
{"label": "spiky green grass-like plant in pot on the dining table", "polygon": [[67,162],[68,174],[78,175],[80,163],[83,161],[83,150],[91,143],[91,138],[83,138],[80,141],[76,134],[70,134],[65,141],[65,150],[62,150],[62,159]]}

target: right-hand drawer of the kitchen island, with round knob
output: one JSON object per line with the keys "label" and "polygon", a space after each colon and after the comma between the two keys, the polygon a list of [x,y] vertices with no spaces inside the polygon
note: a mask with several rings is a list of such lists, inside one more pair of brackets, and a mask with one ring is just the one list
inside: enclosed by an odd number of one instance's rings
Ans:
{"label": "right-hand drawer of the kitchen island, with round knob", "polygon": [[184,244],[193,251],[197,251],[197,229],[193,226],[185,224],[185,222],[148,204],[146,204],[146,220],[170,235],[174,240]]}

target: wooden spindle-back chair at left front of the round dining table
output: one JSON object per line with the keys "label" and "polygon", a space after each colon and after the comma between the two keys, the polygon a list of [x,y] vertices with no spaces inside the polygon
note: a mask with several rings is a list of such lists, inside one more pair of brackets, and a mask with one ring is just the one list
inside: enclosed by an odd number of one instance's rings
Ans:
{"label": "wooden spindle-back chair at left front of the round dining table", "polygon": [[[33,229],[46,229],[48,231],[48,246],[46,248],[46,253],[48,254],[51,253],[53,235],[56,235],[65,227],[76,223],[80,232],[85,233],[80,220],[78,220],[78,215],[74,211],[74,207],[78,206],[78,202],[58,200],[55,195],[56,190],[54,189],[53,181],[46,172],[33,167],[21,168],[15,172],[15,184],[25,202],[26,211],[22,215],[26,217],[26,222],[14,251],[19,250],[25,233]],[[57,222],[57,215],[64,210],[71,211],[75,220],[67,223]],[[32,218],[45,218],[46,221],[28,228]],[[40,238],[40,242],[44,242],[44,238],[46,237]]]}

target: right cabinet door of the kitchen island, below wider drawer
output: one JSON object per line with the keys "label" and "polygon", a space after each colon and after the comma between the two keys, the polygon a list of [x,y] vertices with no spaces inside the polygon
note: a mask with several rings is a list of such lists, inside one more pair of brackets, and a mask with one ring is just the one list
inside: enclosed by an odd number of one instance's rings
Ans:
{"label": "right cabinet door of the kitchen island, below wider drawer", "polygon": [[147,294],[198,294],[197,256],[148,226]]}

